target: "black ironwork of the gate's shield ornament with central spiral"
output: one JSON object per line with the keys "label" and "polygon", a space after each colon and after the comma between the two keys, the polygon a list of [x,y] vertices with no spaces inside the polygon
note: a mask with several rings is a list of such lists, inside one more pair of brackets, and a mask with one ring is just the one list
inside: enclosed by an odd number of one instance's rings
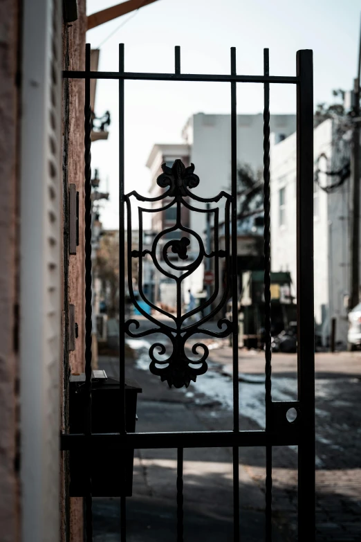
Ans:
{"label": "black ironwork of the gate's shield ornament with central spiral", "polygon": [[[194,165],[190,165],[188,168],[185,168],[185,165],[180,161],[176,160],[174,162],[174,165],[171,168],[168,168],[167,165],[163,164],[163,174],[160,174],[158,177],[158,186],[162,188],[167,188],[169,186],[169,189],[166,190],[162,195],[154,198],[150,197],[144,197],[138,194],[138,192],[129,192],[129,194],[124,195],[124,201],[127,205],[127,237],[128,237],[128,287],[129,287],[129,294],[131,296],[131,300],[133,302],[133,305],[138,309],[140,314],[145,316],[147,320],[149,320],[151,323],[154,323],[154,325],[158,326],[151,329],[146,329],[143,332],[136,332],[135,330],[131,331],[131,327],[135,326],[136,329],[139,328],[139,322],[138,320],[131,319],[127,320],[125,323],[125,332],[133,337],[133,338],[140,338],[144,337],[146,335],[151,335],[154,333],[161,333],[164,334],[165,337],[168,338],[168,340],[172,343],[172,354],[165,359],[164,361],[160,359],[156,359],[154,356],[154,350],[156,348],[159,349],[158,354],[165,355],[167,354],[165,346],[163,343],[154,343],[149,348],[149,357],[151,359],[151,363],[149,365],[149,369],[153,374],[157,374],[160,376],[160,379],[162,381],[166,380],[169,386],[174,386],[175,388],[182,388],[183,386],[188,387],[190,381],[196,381],[196,377],[200,374],[204,374],[207,371],[207,363],[206,359],[209,354],[208,348],[203,343],[196,343],[192,347],[192,353],[198,354],[198,348],[201,348],[203,350],[203,355],[201,359],[197,359],[195,361],[189,359],[187,356],[187,352],[185,350],[185,344],[187,343],[188,339],[196,334],[196,333],[204,333],[210,336],[214,337],[226,337],[230,334],[232,331],[232,323],[230,320],[227,320],[226,318],[221,318],[219,320],[219,329],[221,329],[220,332],[213,332],[209,329],[204,329],[201,327],[204,325],[208,320],[213,318],[219,310],[225,305],[225,302],[228,298],[228,290],[229,290],[229,284],[227,281],[225,284],[225,289],[223,291],[221,300],[216,303],[216,306],[210,310],[210,312],[207,315],[201,316],[200,320],[197,320],[195,323],[188,322],[189,318],[194,316],[195,314],[202,311],[202,309],[206,307],[210,307],[211,303],[216,300],[216,297],[219,294],[219,258],[225,258],[226,263],[226,269],[228,270],[230,267],[230,203],[231,203],[231,197],[226,192],[220,192],[219,195],[216,195],[213,198],[201,198],[198,197],[190,191],[191,188],[194,188],[198,186],[199,178],[196,174],[194,174]],[[147,201],[152,203],[157,203],[157,206],[155,208],[145,208],[145,207],[138,207],[138,223],[139,223],[139,240],[138,240],[138,250],[133,249],[133,243],[132,243],[132,210],[131,210],[131,198],[134,197],[136,201]],[[162,203],[162,200],[169,199],[169,197],[173,197],[173,200],[164,206],[159,204]],[[198,208],[193,205],[190,205],[185,198],[188,198],[189,200],[195,199],[196,201],[200,201],[202,203],[216,203],[221,202],[222,199],[225,199],[224,207],[225,207],[225,250],[219,250],[219,231],[216,229],[219,223],[219,208],[210,208],[210,209],[203,209]],[[165,228],[163,231],[160,231],[158,235],[154,238],[154,241],[151,246],[151,250],[146,249],[143,250],[143,241],[142,241],[142,224],[143,219],[142,216],[144,213],[164,213],[165,210],[172,208],[173,206],[176,206],[176,223],[174,226],[170,226],[169,228]],[[195,231],[192,231],[190,228],[187,228],[182,224],[181,220],[181,207],[185,206],[186,208],[189,208],[189,210],[192,210],[193,213],[213,213],[214,214],[214,251],[207,254],[205,251],[205,247],[203,244],[203,240],[201,239],[200,235],[196,233]],[[160,244],[160,240],[162,237],[164,237],[164,240],[167,240],[167,235],[173,232],[180,231],[181,233],[184,233],[185,235],[188,235],[188,237],[182,237],[180,240],[174,239],[170,240],[168,242],[165,242],[164,245],[158,245]],[[168,249],[172,249],[173,253],[176,253],[178,255],[178,258],[181,260],[187,260],[187,246],[189,246],[190,241],[189,237],[193,236],[196,241],[198,242],[199,246],[199,253],[195,260],[191,260],[189,264],[185,264],[183,266],[176,265],[174,262],[169,260],[168,258]],[[171,235],[172,237],[172,235]],[[163,256],[163,260],[158,260],[158,253]],[[161,307],[157,307],[154,305],[149,298],[145,296],[145,293],[142,289],[142,260],[147,255],[151,257],[151,261],[154,264],[154,267],[160,272],[163,273],[167,278],[172,279],[176,282],[176,315],[172,314],[171,312],[167,312],[165,309],[162,309]],[[132,264],[131,260],[132,258],[138,260],[138,292],[140,293],[140,296],[143,301],[147,303],[149,307],[154,309],[154,311],[158,312],[159,314],[163,314],[169,318],[169,320],[172,320],[175,327],[172,327],[172,325],[167,325],[164,322],[160,322],[156,319],[155,316],[151,316],[150,314],[145,311],[145,309],[142,309],[142,307],[139,305],[138,301],[136,300],[135,293],[133,291],[133,278],[132,278]],[[215,285],[214,285],[214,292],[212,293],[212,296],[210,296],[209,299],[207,299],[203,305],[196,307],[192,310],[189,310],[188,312],[185,312],[185,314],[182,314],[182,302],[181,302],[181,290],[182,290],[182,282],[187,278],[189,275],[192,275],[196,269],[198,269],[199,265],[203,262],[204,258],[214,258],[215,262]],[[163,265],[162,265],[163,263]],[[167,271],[165,269],[165,266],[170,268],[170,271]],[[183,271],[183,274],[174,274],[171,271]],[[224,327],[224,329],[222,329]],[[194,368],[192,365],[201,365],[201,367]],[[158,368],[156,365],[167,365],[163,368]]]}

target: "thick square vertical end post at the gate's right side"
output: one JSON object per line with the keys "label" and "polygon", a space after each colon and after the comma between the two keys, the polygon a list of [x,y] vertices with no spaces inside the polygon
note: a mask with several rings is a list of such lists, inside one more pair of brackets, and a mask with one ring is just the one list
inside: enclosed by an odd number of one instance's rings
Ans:
{"label": "thick square vertical end post at the gate's right side", "polygon": [[313,53],[297,51],[297,365],[301,402],[298,537],[315,541],[315,330],[313,315]]}

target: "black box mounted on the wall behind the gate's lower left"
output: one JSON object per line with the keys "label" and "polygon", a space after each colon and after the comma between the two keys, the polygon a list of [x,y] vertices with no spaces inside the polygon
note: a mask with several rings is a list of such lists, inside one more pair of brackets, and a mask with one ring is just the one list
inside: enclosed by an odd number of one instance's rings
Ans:
{"label": "black box mounted on the wall behind the gate's lower left", "polygon": [[[69,385],[70,433],[84,433],[84,383],[85,374],[71,376]],[[119,381],[112,378],[92,379],[92,433],[119,433],[120,406]],[[137,396],[142,389],[135,381],[125,381],[125,426],[127,433],[136,431]],[[134,450],[97,449],[91,453],[91,494],[95,497],[131,496],[133,485]],[[70,496],[86,495],[89,471],[84,451],[71,450]],[[122,477],[125,468],[125,491],[122,491]]]}

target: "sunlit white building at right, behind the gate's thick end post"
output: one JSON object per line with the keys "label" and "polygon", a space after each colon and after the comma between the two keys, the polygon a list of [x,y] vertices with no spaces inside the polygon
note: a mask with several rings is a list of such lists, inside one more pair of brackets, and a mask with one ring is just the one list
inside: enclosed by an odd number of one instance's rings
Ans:
{"label": "sunlit white building at right, behind the gate's thick end post", "polygon": [[[315,168],[335,170],[339,161],[337,121],[325,120],[314,131]],[[337,141],[338,140],[338,141]],[[296,295],[296,134],[271,145],[271,266],[290,271]],[[344,144],[344,147],[347,147]],[[340,162],[338,163],[340,165]],[[336,341],[346,343],[349,292],[349,179],[332,192],[320,186],[335,177],[319,173],[314,183],[315,329],[326,345],[331,318],[336,318]],[[320,186],[319,186],[320,185]]]}

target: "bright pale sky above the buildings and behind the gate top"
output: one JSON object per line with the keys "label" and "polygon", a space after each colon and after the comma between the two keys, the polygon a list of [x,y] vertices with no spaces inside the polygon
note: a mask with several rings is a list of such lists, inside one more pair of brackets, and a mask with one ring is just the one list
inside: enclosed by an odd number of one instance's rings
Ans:
{"label": "bright pale sky above the buildings and behind the gate top", "polygon": [[[116,3],[88,0],[87,13]],[[183,73],[230,73],[234,46],[237,73],[263,73],[263,48],[268,47],[270,75],[295,75],[296,52],[313,49],[316,105],[331,101],[332,89],[352,87],[360,14],[359,0],[157,0],[135,15],[89,30],[86,41],[100,47],[100,71],[118,71],[119,43],[124,43],[125,70],[147,72],[174,71],[174,46],[179,45]],[[295,113],[295,99],[294,85],[271,85],[270,112]],[[182,143],[182,128],[192,114],[229,114],[230,84],[126,81],[124,107],[125,189],[147,195],[150,174],[145,163],[153,145]],[[262,85],[237,84],[238,113],[262,109]],[[118,228],[118,82],[99,80],[95,113],[101,116],[107,110],[112,119],[109,138],[93,143],[91,154],[92,167],[100,172],[100,190],[110,194],[102,204],[101,220],[104,228],[112,229]]]}

